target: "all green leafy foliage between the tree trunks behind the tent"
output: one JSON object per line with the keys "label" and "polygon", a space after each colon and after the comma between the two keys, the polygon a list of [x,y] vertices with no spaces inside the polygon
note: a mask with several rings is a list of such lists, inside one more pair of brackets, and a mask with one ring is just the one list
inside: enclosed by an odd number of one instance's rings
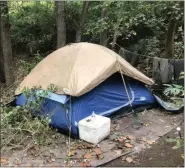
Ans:
{"label": "all green leafy foliage between the tree trunks behind the tent", "polygon": [[[101,18],[106,7],[108,17]],[[80,21],[82,2],[66,2],[67,43],[75,41]],[[178,20],[175,32],[175,58],[183,57],[183,11],[179,2],[107,1],[91,2],[83,41],[99,43],[102,30],[108,31],[108,43],[117,31],[118,43],[122,47],[133,44],[133,50],[148,56],[163,56],[164,42],[169,18],[175,12]],[[48,54],[56,46],[56,18],[53,1],[9,2],[12,43],[15,52],[24,51],[31,55],[37,52]],[[143,40],[141,40],[143,39]]]}

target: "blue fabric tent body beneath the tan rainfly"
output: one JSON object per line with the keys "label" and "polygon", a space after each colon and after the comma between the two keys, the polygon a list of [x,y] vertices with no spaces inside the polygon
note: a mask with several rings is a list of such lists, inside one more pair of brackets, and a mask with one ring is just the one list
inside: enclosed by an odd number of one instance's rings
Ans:
{"label": "blue fabric tent body beneath the tan rainfly", "polygon": [[[153,105],[156,100],[145,85],[134,79],[126,78],[126,85],[132,106]],[[40,92],[40,91],[39,91]],[[42,112],[51,115],[51,126],[68,131],[70,118],[72,134],[78,136],[77,123],[95,114],[109,116],[120,109],[130,106],[120,74],[114,74],[90,92],[80,97],[49,93],[42,104]],[[19,95],[16,105],[23,106],[26,98]]]}

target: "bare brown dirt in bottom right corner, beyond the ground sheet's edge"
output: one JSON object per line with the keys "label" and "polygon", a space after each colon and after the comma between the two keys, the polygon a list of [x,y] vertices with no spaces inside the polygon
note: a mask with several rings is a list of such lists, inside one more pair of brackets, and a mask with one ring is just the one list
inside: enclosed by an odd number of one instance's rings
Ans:
{"label": "bare brown dirt in bottom right corner, beyond the ground sheet's edge", "polygon": [[[184,136],[184,123],[180,125],[182,136]],[[172,149],[173,143],[166,142],[167,138],[177,138],[176,129],[161,137],[151,148],[135,154],[133,162],[128,163],[124,157],[115,159],[101,167],[184,167],[184,147]]]}

